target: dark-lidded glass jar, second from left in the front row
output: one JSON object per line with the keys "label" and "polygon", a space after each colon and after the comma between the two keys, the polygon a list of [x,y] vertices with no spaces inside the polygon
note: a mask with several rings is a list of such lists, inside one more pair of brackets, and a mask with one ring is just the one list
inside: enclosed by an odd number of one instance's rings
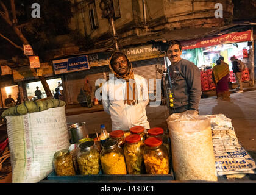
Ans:
{"label": "dark-lidded glass jar, second from left in the front row", "polygon": [[77,163],[81,175],[95,175],[99,173],[99,152],[94,146],[94,141],[85,141],[79,144]]}

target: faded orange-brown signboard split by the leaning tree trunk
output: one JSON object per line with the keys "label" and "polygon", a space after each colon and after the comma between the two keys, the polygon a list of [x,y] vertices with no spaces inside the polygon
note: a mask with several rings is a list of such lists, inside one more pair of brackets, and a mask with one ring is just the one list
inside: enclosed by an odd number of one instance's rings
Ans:
{"label": "faded orange-brown signboard split by the leaning tree trunk", "polygon": [[[43,76],[53,76],[52,66],[49,63],[40,63],[40,70]],[[30,66],[21,66],[19,68],[13,68],[13,80],[14,82],[23,80],[38,79],[37,73],[33,73]]]}

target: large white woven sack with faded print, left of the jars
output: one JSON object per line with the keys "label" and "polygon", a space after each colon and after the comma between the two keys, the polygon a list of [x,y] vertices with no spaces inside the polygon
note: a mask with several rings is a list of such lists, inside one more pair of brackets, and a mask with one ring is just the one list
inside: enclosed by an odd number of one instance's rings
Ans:
{"label": "large white woven sack with faded print, left of the jars", "polygon": [[12,182],[39,182],[53,171],[54,153],[70,146],[65,107],[6,119]]}

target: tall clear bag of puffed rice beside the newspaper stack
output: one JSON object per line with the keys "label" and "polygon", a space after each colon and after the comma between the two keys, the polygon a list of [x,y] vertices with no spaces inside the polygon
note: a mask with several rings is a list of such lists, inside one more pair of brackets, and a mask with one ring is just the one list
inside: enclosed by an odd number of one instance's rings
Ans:
{"label": "tall clear bag of puffed rice beside the newspaper stack", "polygon": [[175,179],[217,181],[210,119],[187,111],[167,123]]}

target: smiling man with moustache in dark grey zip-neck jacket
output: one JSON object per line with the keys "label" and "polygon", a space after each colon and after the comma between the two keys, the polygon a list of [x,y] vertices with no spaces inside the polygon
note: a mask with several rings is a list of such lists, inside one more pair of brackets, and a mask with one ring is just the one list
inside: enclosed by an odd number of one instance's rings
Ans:
{"label": "smiling man with moustache in dark grey zip-neck jacket", "polygon": [[[169,41],[167,57],[171,61],[168,68],[171,80],[171,96],[173,97],[173,106],[169,105],[170,114],[187,110],[198,111],[202,94],[199,68],[194,63],[182,59],[181,55],[180,42],[177,40]],[[168,74],[166,74],[166,86],[169,86]]]}

